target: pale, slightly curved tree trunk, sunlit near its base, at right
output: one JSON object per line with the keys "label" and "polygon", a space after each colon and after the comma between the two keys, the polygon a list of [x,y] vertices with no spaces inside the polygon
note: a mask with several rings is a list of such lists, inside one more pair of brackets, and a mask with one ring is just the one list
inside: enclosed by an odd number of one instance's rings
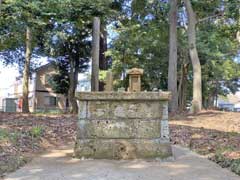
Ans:
{"label": "pale, slightly curved tree trunk, sunlit near its base, at right", "polygon": [[198,113],[202,109],[202,72],[196,47],[196,14],[190,0],[184,0],[188,15],[188,48],[193,67],[193,101],[192,112]]}

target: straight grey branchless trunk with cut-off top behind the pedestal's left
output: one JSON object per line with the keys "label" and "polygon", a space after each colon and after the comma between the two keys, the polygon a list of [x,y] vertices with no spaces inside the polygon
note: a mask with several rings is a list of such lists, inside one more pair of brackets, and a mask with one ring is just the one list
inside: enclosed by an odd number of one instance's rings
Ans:
{"label": "straight grey branchless trunk with cut-off top behind the pedestal's left", "polygon": [[93,19],[93,39],[92,39],[92,79],[91,90],[99,90],[99,46],[100,46],[100,19]]}

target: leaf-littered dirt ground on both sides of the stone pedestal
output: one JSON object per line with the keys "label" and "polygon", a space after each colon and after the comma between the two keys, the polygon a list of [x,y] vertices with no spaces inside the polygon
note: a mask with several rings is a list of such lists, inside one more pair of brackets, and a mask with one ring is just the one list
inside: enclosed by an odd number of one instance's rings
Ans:
{"label": "leaf-littered dirt ground on both sides of the stone pedestal", "polygon": [[[170,118],[172,144],[188,147],[240,174],[240,113],[204,111]],[[77,116],[0,113],[0,175],[33,156],[73,144]]]}

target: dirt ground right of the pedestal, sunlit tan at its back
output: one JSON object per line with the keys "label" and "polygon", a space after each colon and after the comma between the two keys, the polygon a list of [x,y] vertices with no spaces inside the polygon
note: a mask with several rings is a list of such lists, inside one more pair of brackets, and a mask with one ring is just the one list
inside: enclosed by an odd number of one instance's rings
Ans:
{"label": "dirt ground right of the pedestal, sunlit tan at its back", "polygon": [[240,175],[240,113],[205,111],[178,115],[170,120],[173,144],[206,155]]}

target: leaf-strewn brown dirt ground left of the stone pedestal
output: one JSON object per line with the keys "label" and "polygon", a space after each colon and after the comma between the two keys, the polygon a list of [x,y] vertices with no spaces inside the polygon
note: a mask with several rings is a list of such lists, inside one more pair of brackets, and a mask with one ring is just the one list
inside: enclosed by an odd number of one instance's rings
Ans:
{"label": "leaf-strewn brown dirt ground left of the stone pedestal", "polygon": [[0,176],[39,153],[74,142],[76,116],[0,113]]}

